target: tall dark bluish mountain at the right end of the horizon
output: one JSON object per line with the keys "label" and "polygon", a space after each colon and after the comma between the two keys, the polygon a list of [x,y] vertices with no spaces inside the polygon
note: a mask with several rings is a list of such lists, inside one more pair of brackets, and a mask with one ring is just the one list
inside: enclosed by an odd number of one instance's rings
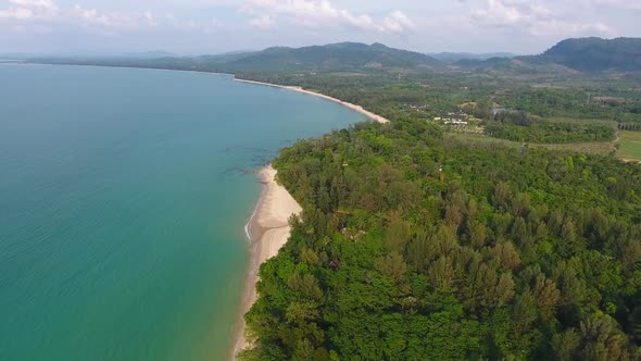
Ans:
{"label": "tall dark bluish mountain at the right end of the horizon", "polygon": [[581,72],[641,71],[641,38],[566,39],[540,55],[517,59],[555,63]]}

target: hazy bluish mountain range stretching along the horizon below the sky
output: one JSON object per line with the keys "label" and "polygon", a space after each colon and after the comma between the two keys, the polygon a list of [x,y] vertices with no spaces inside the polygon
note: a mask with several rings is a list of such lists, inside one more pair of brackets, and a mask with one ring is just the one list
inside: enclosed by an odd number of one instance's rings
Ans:
{"label": "hazy bluish mountain range stretching along the horizon below the sky", "polygon": [[[438,58],[438,59],[437,59]],[[641,71],[641,38],[566,39],[539,55],[419,52],[382,43],[340,42],[303,48],[275,47],[262,51],[201,57],[131,57],[130,59],[37,59],[33,62],[192,70],[243,71],[448,71],[474,69],[537,69],[579,72]]]}

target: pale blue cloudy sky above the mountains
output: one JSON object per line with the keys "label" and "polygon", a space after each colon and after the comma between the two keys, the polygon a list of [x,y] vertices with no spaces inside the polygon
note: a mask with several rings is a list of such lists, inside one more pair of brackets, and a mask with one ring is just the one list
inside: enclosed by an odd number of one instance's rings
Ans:
{"label": "pale blue cloudy sky above the mountains", "polygon": [[540,53],[641,37],[641,0],[0,0],[0,53],[205,54],[340,41]]}

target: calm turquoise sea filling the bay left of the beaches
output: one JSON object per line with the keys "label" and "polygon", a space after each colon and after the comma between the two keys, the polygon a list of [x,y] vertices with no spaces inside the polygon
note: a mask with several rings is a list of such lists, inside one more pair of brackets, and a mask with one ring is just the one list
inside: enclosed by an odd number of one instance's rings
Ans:
{"label": "calm turquoise sea filling the bay left of the beaches", "polygon": [[364,117],[230,77],[0,65],[0,360],[222,360],[260,188]]}

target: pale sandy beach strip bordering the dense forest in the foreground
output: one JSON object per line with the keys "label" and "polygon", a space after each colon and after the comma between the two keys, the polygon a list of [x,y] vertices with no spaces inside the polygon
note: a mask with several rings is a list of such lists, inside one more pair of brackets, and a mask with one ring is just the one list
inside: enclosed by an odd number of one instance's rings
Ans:
{"label": "pale sandy beach strip bordering the dense forest in the foreground", "polygon": [[250,266],[246,276],[242,299],[236,322],[234,348],[230,359],[250,347],[244,338],[244,314],[256,301],[256,283],[261,264],[278,254],[289,239],[289,217],[300,214],[302,208],[285,189],[276,183],[276,170],[266,165],[257,174],[262,183],[261,197],[244,229],[250,241]]}

